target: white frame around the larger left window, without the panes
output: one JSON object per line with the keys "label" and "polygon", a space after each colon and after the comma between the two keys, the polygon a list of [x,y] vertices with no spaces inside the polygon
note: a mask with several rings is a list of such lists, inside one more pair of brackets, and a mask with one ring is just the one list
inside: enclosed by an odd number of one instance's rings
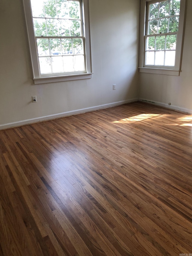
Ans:
{"label": "white frame around the larger left window, without the panes", "polygon": [[[90,42],[90,26],[89,26],[89,3],[88,0],[79,0],[82,8],[82,39],[84,42],[85,54],[85,71],[76,72],[75,74],[61,75],[59,73],[41,74],[38,64],[38,49],[36,45],[35,33],[33,28],[33,17],[30,0],[23,0],[24,11],[27,24],[27,32],[29,38],[30,56],[32,61],[33,80],[35,84],[61,82],[79,79],[88,79],[92,77],[91,63],[91,42]],[[46,37],[44,37],[46,38]],[[60,38],[60,37],[57,37]]]}

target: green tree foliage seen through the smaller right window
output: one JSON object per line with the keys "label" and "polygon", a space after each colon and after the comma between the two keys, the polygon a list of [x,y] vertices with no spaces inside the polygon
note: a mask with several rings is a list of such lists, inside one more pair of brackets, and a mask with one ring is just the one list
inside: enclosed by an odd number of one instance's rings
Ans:
{"label": "green tree foliage seen through the smaller right window", "polygon": [[[177,32],[179,27],[180,0],[166,0],[151,4],[149,7],[149,33],[155,35],[167,32]],[[168,18],[170,13],[170,17]],[[159,20],[159,23],[158,23]],[[169,26],[169,28],[168,28]],[[167,35],[166,50],[176,44],[176,35]],[[156,50],[165,49],[165,36],[156,36]],[[155,36],[149,37],[148,50],[155,50]]]}

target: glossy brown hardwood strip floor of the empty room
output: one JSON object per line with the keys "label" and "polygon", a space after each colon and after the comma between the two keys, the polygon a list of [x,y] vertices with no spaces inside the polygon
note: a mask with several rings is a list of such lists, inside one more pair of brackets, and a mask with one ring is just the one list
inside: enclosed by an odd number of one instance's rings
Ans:
{"label": "glossy brown hardwood strip floor of the empty room", "polygon": [[0,131],[0,255],[192,255],[191,155],[143,103]]}

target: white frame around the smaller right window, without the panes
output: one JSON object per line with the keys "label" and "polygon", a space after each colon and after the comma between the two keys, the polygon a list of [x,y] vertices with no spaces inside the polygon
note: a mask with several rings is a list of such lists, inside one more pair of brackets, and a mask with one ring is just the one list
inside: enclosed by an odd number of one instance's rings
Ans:
{"label": "white frame around the smaller right window, without the panes", "polygon": [[[182,50],[184,41],[184,25],[185,25],[185,12],[186,12],[186,0],[181,0],[180,15],[179,15],[179,29],[177,33],[177,44],[176,44],[176,61],[175,66],[157,66],[157,65],[145,65],[145,54],[146,54],[146,35],[147,35],[147,22],[148,22],[148,6],[159,1],[141,0],[140,7],[140,56],[139,56],[139,71],[142,73],[152,74],[164,74],[179,76],[182,64]],[[165,34],[157,34],[165,35]],[[155,35],[154,35],[155,36]]]}

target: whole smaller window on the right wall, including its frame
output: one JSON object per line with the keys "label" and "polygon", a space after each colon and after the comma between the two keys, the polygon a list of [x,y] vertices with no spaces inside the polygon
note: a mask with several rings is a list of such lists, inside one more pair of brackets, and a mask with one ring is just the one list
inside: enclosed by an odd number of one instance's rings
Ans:
{"label": "whole smaller window on the right wall, including its frame", "polygon": [[142,0],[141,8],[140,72],[179,75],[185,0]]}

